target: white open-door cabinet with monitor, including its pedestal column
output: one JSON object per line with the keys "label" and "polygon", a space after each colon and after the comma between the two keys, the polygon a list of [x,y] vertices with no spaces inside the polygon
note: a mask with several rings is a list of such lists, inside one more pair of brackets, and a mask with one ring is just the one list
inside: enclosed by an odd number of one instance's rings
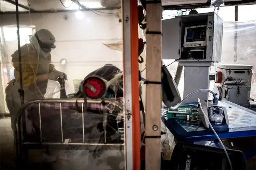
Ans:
{"label": "white open-door cabinet with monitor, including its pedestal column", "polygon": [[[210,67],[221,62],[223,20],[215,13],[176,16],[162,20],[162,58],[179,60],[184,66],[183,96],[209,89]],[[192,96],[185,103],[207,100],[207,93]]]}

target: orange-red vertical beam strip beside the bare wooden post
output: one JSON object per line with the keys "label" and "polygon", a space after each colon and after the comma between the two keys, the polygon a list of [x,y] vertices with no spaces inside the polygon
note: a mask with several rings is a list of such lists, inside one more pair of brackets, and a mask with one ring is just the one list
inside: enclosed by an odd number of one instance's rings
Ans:
{"label": "orange-red vertical beam strip beside the bare wooden post", "polygon": [[131,89],[132,89],[132,147],[133,169],[140,170],[141,135],[140,135],[140,105],[139,105],[139,65],[138,65],[138,1],[130,0],[131,23]]}

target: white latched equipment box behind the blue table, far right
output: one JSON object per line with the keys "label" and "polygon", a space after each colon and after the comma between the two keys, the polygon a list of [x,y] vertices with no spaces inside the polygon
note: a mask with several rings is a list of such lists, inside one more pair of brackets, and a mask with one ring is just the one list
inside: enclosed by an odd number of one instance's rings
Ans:
{"label": "white latched equipment box behind the blue table, far right", "polygon": [[[251,95],[251,83],[252,83],[252,69],[253,66],[251,65],[244,65],[244,64],[216,64],[216,71],[222,71],[223,80],[221,84],[217,84],[219,88],[222,87],[224,81],[228,77],[232,77],[233,79],[243,79],[248,80],[247,83],[244,83],[244,85],[248,86],[248,92],[247,96],[250,97]],[[223,90],[223,89],[222,89]],[[224,94],[224,90],[222,91],[222,94]],[[240,92],[241,94],[241,92]],[[224,97],[224,95],[222,95]],[[230,98],[229,98],[230,100]],[[234,102],[236,103],[236,102]],[[236,103],[239,104],[239,103]],[[244,103],[245,104],[245,103]]]}

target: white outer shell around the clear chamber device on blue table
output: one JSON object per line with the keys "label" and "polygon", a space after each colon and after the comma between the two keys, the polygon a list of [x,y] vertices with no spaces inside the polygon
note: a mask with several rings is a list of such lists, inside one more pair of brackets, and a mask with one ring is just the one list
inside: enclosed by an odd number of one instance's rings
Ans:
{"label": "white outer shell around the clear chamber device on blue table", "polygon": [[[200,119],[201,119],[201,121],[202,121],[202,123],[203,123],[203,125],[204,125],[204,127],[205,127],[206,129],[209,128],[209,122],[207,121],[207,119],[209,120],[208,108],[210,108],[211,106],[214,106],[211,101],[208,102],[208,107],[207,107],[207,101],[201,101],[201,106],[200,106],[199,109],[198,109],[198,114],[199,114]],[[215,105],[215,106],[221,107],[221,108],[223,109],[224,119],[226,120],[226,124],[227,124],[227,127],[228,127],[228,129],[229,129],[229,121],[228,121],[228,114],[227,114],[227,109],[226,109],[226,107],[224,106],[224,104],[222,104],[221,101],[218,101],[218,104]],[[203,114],[202,109],[203,109],[203,111],[204,111],[206,117],[205,117],[205,115]],[[224,119],[223,119],[223,121],[224,121]],[[216,131],[216,129],[215,129],[215,131]]]}

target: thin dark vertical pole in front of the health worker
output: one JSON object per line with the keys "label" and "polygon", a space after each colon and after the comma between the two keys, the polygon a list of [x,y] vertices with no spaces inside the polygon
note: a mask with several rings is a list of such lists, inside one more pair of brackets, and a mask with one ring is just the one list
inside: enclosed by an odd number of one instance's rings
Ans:
{"label": "thin dark vertical pole in front of the health worker", "polygon": [[24,104],[24,90],[22,84],[22,63],[21,63],[21,50],[20,50],[20,37],[19,37],[19,3],[18,0],[15,0],[16,5],[16,23],[17,23],[17,40],[18,40],[18,53],[19,53],[19,84],[20,89],[18,90],[20,96],[21,105]]}

